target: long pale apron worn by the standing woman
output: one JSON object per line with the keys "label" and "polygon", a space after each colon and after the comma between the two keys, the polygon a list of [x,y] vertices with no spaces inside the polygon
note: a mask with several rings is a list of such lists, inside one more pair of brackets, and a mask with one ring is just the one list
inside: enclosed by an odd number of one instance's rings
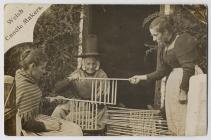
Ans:
{"label": "long pale apron worn by the standing woman", "polygon": [[[195,74],[201,73],[199,67],[195,67]],[[166,83],[165,110],[169,130],[173,135],[185,135],[187,104],[179,103],[180,84],[182,82],[183,69],[174,68]]]}

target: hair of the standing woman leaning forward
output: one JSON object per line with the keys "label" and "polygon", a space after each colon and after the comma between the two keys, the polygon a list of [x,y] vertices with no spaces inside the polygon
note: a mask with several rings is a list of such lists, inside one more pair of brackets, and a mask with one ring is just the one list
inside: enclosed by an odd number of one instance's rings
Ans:
{"label": "hair of the standing woman leaning forward", "polygon": [[174,32],[174,22],[170,16],[159,16],[155,18],[150,26],[149,29],[157,27],[157,31],[163,33],[165,30],[169,32]]}

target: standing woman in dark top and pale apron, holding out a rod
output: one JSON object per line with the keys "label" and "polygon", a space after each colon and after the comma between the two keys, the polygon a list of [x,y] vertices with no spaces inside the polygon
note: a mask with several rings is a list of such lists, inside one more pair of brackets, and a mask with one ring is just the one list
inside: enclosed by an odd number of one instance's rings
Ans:
{"label": "standing woman in dark top and pale apron, holding out a rod", "polygon": [[195,73],[198,60],[197,40],[188,33],[176,34],[168,16],[155,18],[149,26],[153,41],[158,43],[158,66],[155,72],[131,77],[130,83],[142,80],[159,80],[168,76],[165,110],[169,130],[175,135],[185,135],[187,93],[189,79]]}

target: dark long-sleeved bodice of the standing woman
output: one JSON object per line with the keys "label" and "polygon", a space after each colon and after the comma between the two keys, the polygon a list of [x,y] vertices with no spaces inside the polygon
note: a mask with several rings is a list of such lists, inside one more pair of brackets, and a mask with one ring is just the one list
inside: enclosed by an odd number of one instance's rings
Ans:
{"label": "dark long-sleeved bodice of the standing woman", "polygon": [[168,75],[173,68],[183,68],[183,78],[180,88],[187,91],[189,79],[194,74],[194,68],[198,60],[197,40],[184,33],[177,36],[170,45],[160,47],[158,50],[159,66],[155,72],[147,75],[148,79],[161,79]]}

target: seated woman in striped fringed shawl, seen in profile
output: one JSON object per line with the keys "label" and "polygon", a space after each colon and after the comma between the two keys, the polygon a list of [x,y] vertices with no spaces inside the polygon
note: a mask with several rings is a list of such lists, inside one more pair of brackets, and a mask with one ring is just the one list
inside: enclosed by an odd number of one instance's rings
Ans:
{"label": "seated woman in striped fringed shawl, seen in profile", "polygon": [[[40,114],[42,92],[38,81],[45,73],[46,56],[38,49],[26,50],[21,57],[21,69],[16,71],[16,105],[22,129],[37,135],[81,136],[81,128],[70,122]],[[45,100],[54,102],[56,97]],[[18,127],[18,126],[17,126]]]}

